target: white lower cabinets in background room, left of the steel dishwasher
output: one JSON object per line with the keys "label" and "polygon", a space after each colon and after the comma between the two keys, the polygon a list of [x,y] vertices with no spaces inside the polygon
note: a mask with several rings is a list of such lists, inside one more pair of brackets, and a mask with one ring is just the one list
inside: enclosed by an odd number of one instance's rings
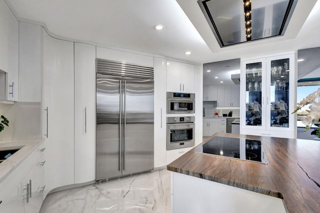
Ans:
{"label": "white lower cabinets in background room, left of the steel dishwasher", "polygon": [[226,132],[225,118],[203,118],[202,135],[211,136],[216,132]]}

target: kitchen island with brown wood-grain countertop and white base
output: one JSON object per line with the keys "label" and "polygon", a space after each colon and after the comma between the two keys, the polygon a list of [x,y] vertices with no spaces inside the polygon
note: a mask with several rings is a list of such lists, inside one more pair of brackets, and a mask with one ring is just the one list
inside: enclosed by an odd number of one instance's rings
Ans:
{"label": "kitchen island with brown wood-grain countertop and white base", "polygon": [[[194,152],[197,147],[213,136],[261,140],[267,164]],[[189,209],[192,208],[192,204],[198,204],[193,201],[199,197],[201,200],[207,199],[204,203],[208,205],[210,203],[212,206],[216,205],[214,212],[223,211],[221,206],[226,206],[226,204],[229,207],[228,210],[232,209],[230,207],[232,205],[241,206],[241,203],[236,203],[237,201],[234,198],[240,197],[245,200],[247,197],[249,200],[243,205],[263,200],[261,206],[266,204],[270,208],[281,208],[280,203],[283,208],[280,210],[287,212],[319,212],[319,161],[319,141],[215,133],[167,165],[167,169],[173,171],[171,181],[173,212],[178,209],[177,205],[179,205],[179,198],[175,196],[179,193],[179,190],[183,190],[177,180],[184,181],[186,189],[193,187],[197,190],[192,191],[193,189],[190,189],[191,191],[188,194],[190,200],[186,200],[187,198],[184,197],[183,207]],[[189,184],[185,186],[185,182]],[[203,187],[203,184],[207,187]],[[221,203],[219,198],[223,199],[224,190],[228,191],[226,196],[230,198]],[[196,194],[197,192],[200,193]],[[186,191],[182,192],[182,194],[186,193]],[[216,193],[221,193],[221,195]],[[202,196],[202,194],[208,194],[209,197]],[[235,194],[238,194],[238,196],[235,196]],[[261,199],[258,196],[261,196]],[[255,197],[257,197],[257,200],[253,200]],[[188,206],[189,203],[191,203],[191,207]],[[257,205],[252,206],[255,208]],[[270,212],[270,208],[246,209],[246,212]],[[203,212],[205,208],[201,205],[192,210],[194,209],[202,209]],[[237,209],[237,212],[241,212],[241,210]]]}

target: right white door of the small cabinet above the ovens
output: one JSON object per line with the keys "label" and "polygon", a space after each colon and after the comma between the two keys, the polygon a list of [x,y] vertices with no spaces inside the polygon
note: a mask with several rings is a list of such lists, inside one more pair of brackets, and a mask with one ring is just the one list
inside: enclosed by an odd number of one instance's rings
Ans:
{"label": "right white door of the small cabinet above the ovens", "polygon": [[181,63],[181,83],[183,92],[194,93],[194,65]]}

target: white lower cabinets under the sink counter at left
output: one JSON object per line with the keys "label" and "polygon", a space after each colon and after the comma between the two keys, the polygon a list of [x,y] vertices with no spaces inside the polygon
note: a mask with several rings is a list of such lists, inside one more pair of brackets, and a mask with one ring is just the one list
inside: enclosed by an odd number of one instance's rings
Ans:
{"label": "white lower cabinets under the sink counter at left", "polygon": [[0,213],[39,212],[43,201],[43,149],[38,146],[0,183]]}

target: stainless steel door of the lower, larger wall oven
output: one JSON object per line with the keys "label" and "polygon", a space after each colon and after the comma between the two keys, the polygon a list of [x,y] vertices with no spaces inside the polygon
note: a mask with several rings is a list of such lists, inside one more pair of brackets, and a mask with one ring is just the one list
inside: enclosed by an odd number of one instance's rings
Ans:
{"label": "stainless steel door of the lower, larger wall oven", "polygon": [[168,123],[166,150],[194,146],[194,123]]}

